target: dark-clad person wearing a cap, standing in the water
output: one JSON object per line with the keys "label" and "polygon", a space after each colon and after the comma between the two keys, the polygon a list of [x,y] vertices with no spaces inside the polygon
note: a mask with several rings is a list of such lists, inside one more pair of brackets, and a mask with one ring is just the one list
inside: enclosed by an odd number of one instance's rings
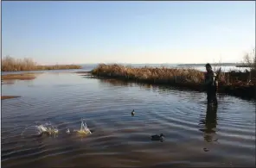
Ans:
{"label": "dark-clad person wearing a cap, standing in the water", "polygon": [[214,73],[212,66],[210,64],[206,64],[206,74],[205,74],[205,85],[207,90],[207,101],[208,104],[214,103],[217,105],[217,88],[218,82],[216,79],[216,74]]}

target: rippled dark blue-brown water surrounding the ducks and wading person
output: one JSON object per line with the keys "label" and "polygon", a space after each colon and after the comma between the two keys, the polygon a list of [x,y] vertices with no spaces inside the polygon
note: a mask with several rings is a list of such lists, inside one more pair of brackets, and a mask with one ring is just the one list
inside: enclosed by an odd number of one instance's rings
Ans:
{"label": "rippled dark blue-brown water surrounding the ducks and wading person", "polygon": [[[3,84],[2,94],[21,96],[2,101],[3,167],[255,165],[255,103],[234,96],[207,108],[204,93],[76,73]],[[81,118],[92,134],[66,134]],[[59,134],[22,136],[48,122]]]}

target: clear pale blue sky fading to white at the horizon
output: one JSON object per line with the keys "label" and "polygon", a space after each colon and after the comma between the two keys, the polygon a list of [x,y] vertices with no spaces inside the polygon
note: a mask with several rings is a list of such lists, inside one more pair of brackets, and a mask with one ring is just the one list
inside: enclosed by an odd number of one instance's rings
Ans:
{"label": "clear pale blue sky fading to white at the horizon", "polygon": [[239,62],[255,2],[2,2],[2,54],[40,64]]}

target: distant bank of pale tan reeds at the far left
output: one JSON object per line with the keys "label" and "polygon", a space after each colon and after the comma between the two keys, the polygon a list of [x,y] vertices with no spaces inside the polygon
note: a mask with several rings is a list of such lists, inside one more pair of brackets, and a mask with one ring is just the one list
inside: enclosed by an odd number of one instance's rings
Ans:
{"label": "distant bank of pale tan reeds at the far left", "polygon": [[2,72],[19,72],[19,71],[43,71],[43,70],[65,70],[81,69],[80,65],[37,65],[33,59],[14,59],[10,56],[2,59]]}

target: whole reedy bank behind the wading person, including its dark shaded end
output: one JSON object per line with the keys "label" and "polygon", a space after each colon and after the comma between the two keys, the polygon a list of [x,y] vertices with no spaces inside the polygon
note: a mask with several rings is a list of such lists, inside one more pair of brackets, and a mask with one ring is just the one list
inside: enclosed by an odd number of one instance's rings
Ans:
{"label": "whole reedy bank behind the wading person, including its dark shaded end", "polygon": [[[92,74],[101,78],[118,78],[126,81],[142,82],[147,84],[168,84],[184,87],[191,90],[204,90],[204,72],[195,69],[170,69],[166,67],[134,68],[124,65],[98,65]],[[219,92],[235,96],[255,97],[255,83],[245,79],[250,74],[221,73],[219,77]],[[235,77],[235,78],[233,78]]]}

